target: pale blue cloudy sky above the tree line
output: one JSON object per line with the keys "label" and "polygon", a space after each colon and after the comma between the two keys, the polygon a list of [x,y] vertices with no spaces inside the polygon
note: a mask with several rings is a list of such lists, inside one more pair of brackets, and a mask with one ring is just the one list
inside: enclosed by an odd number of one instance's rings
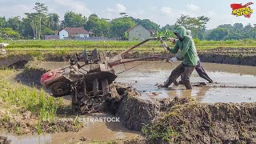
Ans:
{"label": "pale blue cloudy sky above the tree line", "polygon": [[[182,14],[191,17],[205,15],[210,18],[207,29],[221,24],[256,24],[256,1],[246,0],[0,0],[0,17],[25,17],[33,12],[35,2],[48,6],[50,13],[59,14],[61,20],[67,11],[74,11],[88,17],[97,14],[100,18],[118,18],[121,12],[141,19],[150,19],[160,26],[173,25]],[[250,7],[255,10],[250,18],[236,17],[231,14],[230,4],[255,2]]]}

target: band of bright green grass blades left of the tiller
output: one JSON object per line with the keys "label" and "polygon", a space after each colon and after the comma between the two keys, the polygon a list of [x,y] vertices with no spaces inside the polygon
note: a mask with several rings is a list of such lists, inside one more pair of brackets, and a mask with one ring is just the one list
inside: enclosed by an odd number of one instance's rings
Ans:
{"label": "band of bright green grass blades left of the tiller", "polygon": [[[34,114],[38,114],[40,120],[53,122],[56,110],[61,102],[58,99],[48,97],[44,90],[38,91],[36,88],[28,88],[25,86],[10,86],[8,82],[4,82],[6,90],[0,94],[2,102],[6,102],[9,106],[17,106],[19,109],[30,110]],[[2,85],[2,84],[0,84]],[[39,113],[38,113],[39,112]]]}

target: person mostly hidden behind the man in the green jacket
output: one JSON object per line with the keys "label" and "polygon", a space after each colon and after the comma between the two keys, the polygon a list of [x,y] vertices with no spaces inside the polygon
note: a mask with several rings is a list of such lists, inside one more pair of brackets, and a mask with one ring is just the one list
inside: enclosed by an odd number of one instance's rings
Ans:
{"label": "person mostly hidden behind the man in the green jacket", "polygon": [[[192,35],[191,35],[191,30],[186,30],[186,35],[190,36],[192,38]],[[176,42],[178,41],[178,39],[175,39],[175,38],[168,38],[170,40],[170,42]],[[199,77],[201,78],[204,78],[206,81],[210,82],[210,83],[213,83],[213,80],[210,79],[210,77],[208,76],[208,74],[206,74],[206,71],[202,68],[202,65],[201,65],[201,61],[198,57],[198,65],[195,66],[195,70],[198,72],[198,75]],[[181,81],[180,82],[177,82],[176,80],[174,81],[174,84],[175,85],[178,85],[178,84],[183,84],[183,79],[184,75],[182,74],[181,75]]]}

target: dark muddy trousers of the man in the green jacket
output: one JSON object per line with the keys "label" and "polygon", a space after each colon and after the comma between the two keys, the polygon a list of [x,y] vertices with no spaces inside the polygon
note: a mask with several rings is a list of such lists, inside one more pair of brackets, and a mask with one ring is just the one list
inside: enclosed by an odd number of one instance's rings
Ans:
{"label": "dark muddy trousers of the man in the green jacket", "polygon": [[178,65],[170,74],[170,77],[164,83],[163,87],[168,87],[172,82],[174,82],[181,74],[184,74],[182,81],[186,86],[186,89],[192,89],[190,85],[190,76],[194,70],[195,66],[186,66],[184,64]]}

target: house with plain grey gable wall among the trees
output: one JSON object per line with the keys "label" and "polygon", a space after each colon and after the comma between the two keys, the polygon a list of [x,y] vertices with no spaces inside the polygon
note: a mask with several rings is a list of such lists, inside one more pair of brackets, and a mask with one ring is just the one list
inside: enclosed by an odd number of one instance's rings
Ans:
{"label": "house with plain grey gable wall among the trees", "polygon": [[153,30],[146,30],[141,25],[134,26],[126,32],[129,34],[129,41],[142,41],[154,34]]}

